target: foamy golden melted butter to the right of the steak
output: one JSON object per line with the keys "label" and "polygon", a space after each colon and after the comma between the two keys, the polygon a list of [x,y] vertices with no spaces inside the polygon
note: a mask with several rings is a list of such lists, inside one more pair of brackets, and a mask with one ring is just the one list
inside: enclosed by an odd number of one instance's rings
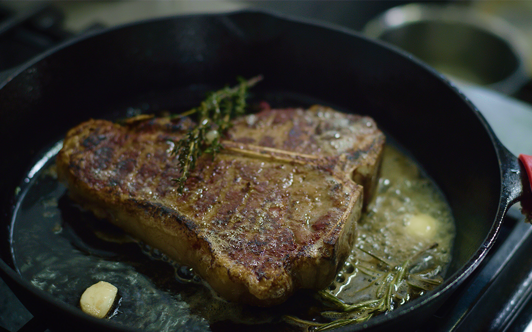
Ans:
{"label": "foamy golden melted butter to the right of the steak", "polygon": [[[344,303],[383,301],[383,311],[393,310],[443,281],[455,235],[451,209],[417,165],[393,147],[385,149],[377,195],[358,232],[328,290]],[[367,313],[332,317],[364,319]]]}

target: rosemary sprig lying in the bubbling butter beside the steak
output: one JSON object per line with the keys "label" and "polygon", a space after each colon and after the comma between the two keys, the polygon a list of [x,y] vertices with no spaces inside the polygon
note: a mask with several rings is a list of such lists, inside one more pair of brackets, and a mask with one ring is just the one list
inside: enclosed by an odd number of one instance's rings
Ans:
{"label": "rosemary sprig lying in the bubbling butter beside the steak", "polygon": [[398,296],[398,289],[403,282],[411,288],[415,288],[419,291],[428,291],[442,283],[441,279],[429,278],[423,272],[410,272],[412,268],[412,262],[415,260],[415,258],[419,257],[420,254],[426,252],[427,250],[436,248],[436,246],[437,244],[433,244],[428,248],[415,253],[413,256],[399,264],[393,264],[384,258],[372,254],[369,251],[356,247],[356,249],[368,254],[385,265],[384,269],[376,270],[365,266],[362,262],[354,264],[355,269],[358,270],[359,273],[363,273],[373,278],[373,281],[369,285],[361,288],[358,290],[358,292],[378,285],[375,294],[376,299],[347,304],[330,292],[322,290],[318,292],[320,299],[327,303],[330,307],[335,308],[337,311],[324,311],[321,312],[321,316],[328,318],[342,318],[342,316],[348,314],[348,318],[336,319],[327,323],[307,321],[294,316],[285,316],[285,319],[298,325],[311,326],[312,331],[324,331],[349,324],[364,322],[376,314],[390,311],[394,309],[394,298]]}

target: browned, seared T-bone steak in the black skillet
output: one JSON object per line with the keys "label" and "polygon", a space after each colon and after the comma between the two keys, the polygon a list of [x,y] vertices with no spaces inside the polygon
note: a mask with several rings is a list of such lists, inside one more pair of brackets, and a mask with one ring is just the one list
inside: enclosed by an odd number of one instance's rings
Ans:
{"label": "browned, seared T-bone steak in the black skillet", "polygon": [[326,287],[376,181],[384,135],[373,120],[323,106],[240,117],[180,193],[170,151],[192,125],[82,123],[57,156],[60,178],[72,199],[189,265],[228,300],[266,306]]}

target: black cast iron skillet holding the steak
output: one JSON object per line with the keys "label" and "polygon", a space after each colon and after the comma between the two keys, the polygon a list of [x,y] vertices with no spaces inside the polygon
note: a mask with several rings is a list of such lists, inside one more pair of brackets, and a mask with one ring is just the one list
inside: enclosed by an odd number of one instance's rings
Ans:
{"label": "black cast iron skillet holding the steak", "polygon": [[529,191],[521,184],[528,182],[518,159],[475,107],[435,71],[384,44],[263,12],[126,25],[51,50],[0,85],[0,269],[34,316],[69,330],[121,328],[52,298],[14,271],[9,243],[14,193],[38,151],[69,127],[138,102],[139,96],[159,96],[152,107],[163,108],[189,98],[181,93],[161,99],[165,91],[205,90],[256,74],[264,75],[256,93],[273,104],[276,98],[318,100],[375,118],[423,165],[452,207],[457,234],[444,284],[345,330],[386,329],[429,317],[479,265],[506,210]]}

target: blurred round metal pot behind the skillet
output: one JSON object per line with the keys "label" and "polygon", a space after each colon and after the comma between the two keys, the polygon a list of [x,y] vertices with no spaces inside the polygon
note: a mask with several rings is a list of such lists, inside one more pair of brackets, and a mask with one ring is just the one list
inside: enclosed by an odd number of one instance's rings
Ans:
{"label": "blurred round metal pot behind the skillet", "polygon": [[456,5],[396,6],[363,33],[393,44],[452,81],[513,95],[530,80],[528,41],[510,23]]}

